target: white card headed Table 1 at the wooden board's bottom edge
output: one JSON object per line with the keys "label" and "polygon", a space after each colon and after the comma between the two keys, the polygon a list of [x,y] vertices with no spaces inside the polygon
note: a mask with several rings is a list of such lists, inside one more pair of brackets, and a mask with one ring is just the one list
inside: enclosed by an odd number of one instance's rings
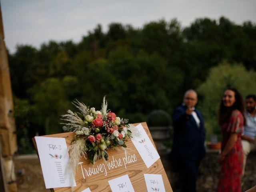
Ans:
{"label": "white card headed Table 1 at the wooden board's bottom edge", "polygon": [[108,181],[112,192],[134,192],[128,174]]}

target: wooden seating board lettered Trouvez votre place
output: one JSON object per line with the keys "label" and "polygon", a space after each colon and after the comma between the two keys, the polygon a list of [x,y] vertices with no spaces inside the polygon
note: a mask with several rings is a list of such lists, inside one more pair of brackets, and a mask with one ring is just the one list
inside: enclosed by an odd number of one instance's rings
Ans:
{"label": "wooden seating board lettered Trouvez votre place", "polygon": [[[138,124],[134,124],[136,126]],[[152,136],[148,130],[146,122],[141,123],[146,134],[150,138],[152,144]],[[74,137],[73,132],[52,134],[42,137],[55,137],[55,138],[65,138],[67,146]],[[143,142],[143,141],[142,141]],[[35,147],[36,143],[34,142]],[[166,172],[160,158],[156,160],[149,168],[146,166],[145,162],[141,158],[138,150],[136,150],[132,140],[128,139],[126,142],[127,150],[126,152],[120,148],[117,150],[108,150],[108,160],[100,159],[91,164],[89,159],[80,159],[80,164],[76,170],[76,187],[73,188],[74,192],[88,191],[91,192],[111,192],[113,189],[110,188],[110,180],[128,175],[130,182],[135,192],[145,192],[147,191],[146,176],[156,177],[162,176],[162,181],[164,189],[166,192],[172,192],[170,182],[167,178]],[[154,145],[154,148],[156,146]],[[37,149],[37,148],[36,148]],[[54,192],[71,192],[71,187],[53,188]],[[152,192],[158,191],[157,188],[152,188]],[[113,190],[114,191],[114,190]]]}

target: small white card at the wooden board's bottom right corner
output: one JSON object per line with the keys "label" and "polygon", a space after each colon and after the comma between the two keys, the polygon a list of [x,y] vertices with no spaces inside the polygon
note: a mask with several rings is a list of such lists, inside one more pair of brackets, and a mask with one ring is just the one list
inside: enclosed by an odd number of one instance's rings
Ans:
{"label": "small white card at the wooden board's bottom right corner", "polygon": [[144,174],[148,192],[165,192],[162,175]]}

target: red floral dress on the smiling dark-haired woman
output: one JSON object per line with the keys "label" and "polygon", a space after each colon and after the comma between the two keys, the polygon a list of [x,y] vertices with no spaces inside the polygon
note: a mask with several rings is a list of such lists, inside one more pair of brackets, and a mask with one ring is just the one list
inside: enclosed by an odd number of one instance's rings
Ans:
{"label": "red floral dress on the smiling dark-haired woman", "polygon": [[218,182],[218,192],[241,192],[241,178],[243,166],[243,150],[241,134],[244,129],[244,118],[239,110],[234,110],[229,121],[222,125],[222,143],[224,150],[231,133],[237,133],[238,138],[230,152],[221,163]]}

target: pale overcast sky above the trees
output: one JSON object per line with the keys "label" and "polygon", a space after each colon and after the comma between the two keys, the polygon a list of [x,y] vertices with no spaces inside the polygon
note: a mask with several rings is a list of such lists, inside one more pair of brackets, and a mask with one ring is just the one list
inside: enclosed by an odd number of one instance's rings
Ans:
{"label": "pale overcast sky above the trees", "polygon": [[0,0],[5,42],[11,53],[17,44],[40,48],[49,40],[79,42],[97,24],[121,22],[135,28],[177,18],[189,26],[196,18],[256,23],[256,0]]}

